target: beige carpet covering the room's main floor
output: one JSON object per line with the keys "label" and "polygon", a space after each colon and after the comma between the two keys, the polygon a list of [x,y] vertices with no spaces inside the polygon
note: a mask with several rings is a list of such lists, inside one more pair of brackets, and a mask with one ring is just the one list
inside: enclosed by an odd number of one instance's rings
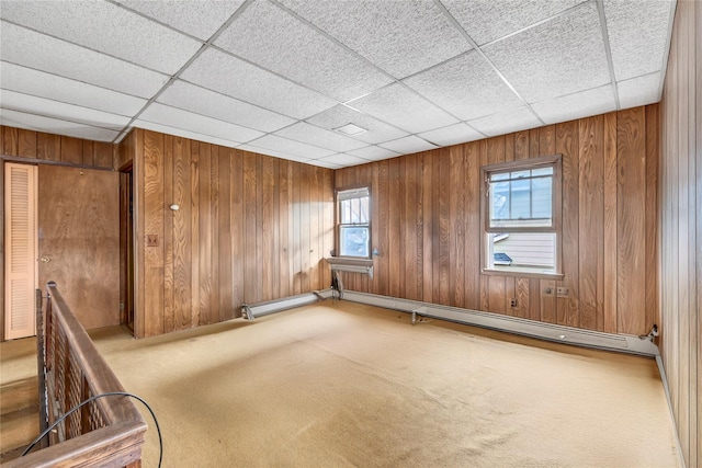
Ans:
{"label": "beige carpet covering the room's main floor", "polygon": [[152,339],[91,335],[154,407],[165,467],[681,466],[648,358],[330,300]]}

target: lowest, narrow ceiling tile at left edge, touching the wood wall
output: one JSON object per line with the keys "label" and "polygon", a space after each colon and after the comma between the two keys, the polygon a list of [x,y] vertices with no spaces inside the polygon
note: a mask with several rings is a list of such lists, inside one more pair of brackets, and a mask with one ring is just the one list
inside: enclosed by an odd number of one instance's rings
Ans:
{"label": "lowest, narrow ceiling tile at left edge, touching the wood wall", "polygon": [[3,109],[0,111],[0,125],[25,128],[29,130],[47,132],[69,137],[91,139],[95,141],[112,141],[120,133],[106,128],[91,127],[75,122],[44,117]]}

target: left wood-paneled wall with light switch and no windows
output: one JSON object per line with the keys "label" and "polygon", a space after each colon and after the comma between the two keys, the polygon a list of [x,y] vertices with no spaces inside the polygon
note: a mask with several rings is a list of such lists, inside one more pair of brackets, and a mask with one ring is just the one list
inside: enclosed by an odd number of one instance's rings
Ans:
{"label": "left wood-paneled wall with light switch and no windows", "polygon": [[117,153],[134,161],[137,336],[329,287],[331,170],[141,129]]}

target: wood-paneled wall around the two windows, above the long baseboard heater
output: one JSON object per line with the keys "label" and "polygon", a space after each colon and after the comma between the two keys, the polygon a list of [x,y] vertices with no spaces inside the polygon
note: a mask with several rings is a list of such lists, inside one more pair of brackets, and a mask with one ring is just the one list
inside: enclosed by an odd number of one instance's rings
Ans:
{"label": "wood-paneled wall around the two windows, above the long baseboard heater", "polygon": [[[484,164],[563,155],[563,281],[480,274]],[[337,170],[369,185],[374,277],[354,290],[612,333],[658,320],[658,105]],[[544,288],[567,286],[556,298]],[[517,298],[517,307],[510,299]]]}

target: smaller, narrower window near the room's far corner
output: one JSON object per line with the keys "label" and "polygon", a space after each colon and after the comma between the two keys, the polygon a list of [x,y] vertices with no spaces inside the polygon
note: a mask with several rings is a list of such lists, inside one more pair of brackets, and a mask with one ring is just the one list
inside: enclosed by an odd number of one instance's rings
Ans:
{"label": "smaller, narrower window near the room's far corner", "polygon": [[339,256],[371,258],[371,191],[337,192],[337,252]]}

